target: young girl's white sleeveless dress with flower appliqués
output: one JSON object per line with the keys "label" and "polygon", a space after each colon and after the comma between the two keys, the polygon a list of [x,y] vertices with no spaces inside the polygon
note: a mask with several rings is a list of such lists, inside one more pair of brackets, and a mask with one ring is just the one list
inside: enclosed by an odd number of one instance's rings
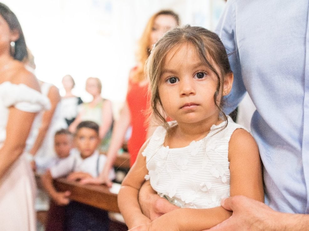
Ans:
{"label": "young girl's white sleeveless dress with flower appliqu\u00e9s", "polygon": [[234,130],[245,127],[229,116],[227,127],[219,131],[224,124],[212,125],[206,137],[183,148],[164,147],[166,130],[162,126],[155,130],[142,155],[149,171],[145,179],[161,197],[196,209],[220,206],[221,199],[229,197],[229,140]]}

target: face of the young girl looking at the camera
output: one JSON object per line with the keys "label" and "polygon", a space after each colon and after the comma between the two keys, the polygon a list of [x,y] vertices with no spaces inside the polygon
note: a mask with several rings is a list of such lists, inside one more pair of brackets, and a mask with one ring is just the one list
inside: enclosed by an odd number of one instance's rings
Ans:
{"label": "face of the young girl looking at the camera", "polygon": [[[213,61],[212,65],[220,73]],[[224,81],[223,89],[225,85]],[[216,75],[203,64],[192,44],[180,44],[167,53],[158,91],[164,111],[178,124],[218,121],[219,110],[214,102],[216,88]],[[220,99],[221,94],[217,105]]]}

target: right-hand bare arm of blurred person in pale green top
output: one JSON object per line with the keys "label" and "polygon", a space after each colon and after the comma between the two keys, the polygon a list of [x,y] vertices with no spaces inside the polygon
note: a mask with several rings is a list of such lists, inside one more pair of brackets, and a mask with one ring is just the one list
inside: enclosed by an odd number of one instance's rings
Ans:
{"label": "right-hand bare arm of blurred person in pale green top", "polygon": [[102,124],[99,130],[100,139],[104,139],[113,123],[113,110],[110,100],[105,100],[102,105]]}

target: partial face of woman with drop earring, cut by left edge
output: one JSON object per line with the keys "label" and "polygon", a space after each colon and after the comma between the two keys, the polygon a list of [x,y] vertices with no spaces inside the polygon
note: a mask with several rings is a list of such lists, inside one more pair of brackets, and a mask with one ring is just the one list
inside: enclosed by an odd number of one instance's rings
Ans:
{"label": "partial face of woman with drop earring, cut by left edge", "polygon": [[[4,18],[0,15],[0,49],[10,49],[10,43],[12,41],[16,41],[19,37],[17,31],[11,31],[8,23],[4,20]],[[1,52],[2,52],[1,51]]]}

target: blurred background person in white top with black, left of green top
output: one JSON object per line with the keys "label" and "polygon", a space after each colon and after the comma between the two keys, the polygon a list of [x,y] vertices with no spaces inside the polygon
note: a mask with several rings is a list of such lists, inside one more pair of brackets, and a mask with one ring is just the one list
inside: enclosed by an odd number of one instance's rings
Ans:
{"label": "blurred background person in white top with black, left of green top", "polygon": [[75,86],[75,81],[72,76],[65,75],[62,78],[62,86],[64,87],[65,95],[61,98],[61,114],[67,125],[70,126],[78,114],[78,106],[83,101],[80,97],[72,93],[72,89]]}

